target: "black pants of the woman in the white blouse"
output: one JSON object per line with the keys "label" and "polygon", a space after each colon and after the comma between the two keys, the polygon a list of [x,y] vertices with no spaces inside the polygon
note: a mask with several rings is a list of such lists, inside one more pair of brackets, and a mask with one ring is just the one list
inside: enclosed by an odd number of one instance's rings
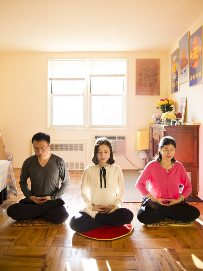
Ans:
{"label": "black pants of the woman in the white blouse", "polygon": [[99,228],[102,225],[120,226],[130,223],[133,220],[133,212],[126,208],[119,208],[110,214],[96,214],[92,218],[85,212],[80,212],[70,220],[70,227],[73,231],[89,231]]}

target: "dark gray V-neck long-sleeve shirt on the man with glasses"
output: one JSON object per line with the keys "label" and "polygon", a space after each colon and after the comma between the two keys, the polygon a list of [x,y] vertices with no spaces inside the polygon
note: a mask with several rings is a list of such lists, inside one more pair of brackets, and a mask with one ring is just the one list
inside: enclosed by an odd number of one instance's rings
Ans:
{"label": "dark gray V-neck long-sleeve shirt on the man with glasses", "polygon": [[[30,178],[31,188],[27,179]],[[61,178],[61,186],[59,181]],[[52,200],[61,198],[70,185],[70,176],[65,161],[51,154],[47,164],[42,167],[36,155],[28,157],[22,166],[20,188],[26,198],[30,196],[50,196]]]}

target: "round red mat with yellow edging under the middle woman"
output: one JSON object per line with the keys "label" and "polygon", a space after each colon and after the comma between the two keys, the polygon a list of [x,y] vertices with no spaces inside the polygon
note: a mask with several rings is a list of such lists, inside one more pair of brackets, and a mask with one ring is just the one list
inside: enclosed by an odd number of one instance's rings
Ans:
{"label": "round red mat with yellow edging under the middle woman", "polygon": [[114,240],[126,236],[133,230],[132,222],[122,226],[110,226],[104,225],[100,228],[93,229],[90,231],[78,232],[78,234],[85,236],[87,238],[96,240]]}

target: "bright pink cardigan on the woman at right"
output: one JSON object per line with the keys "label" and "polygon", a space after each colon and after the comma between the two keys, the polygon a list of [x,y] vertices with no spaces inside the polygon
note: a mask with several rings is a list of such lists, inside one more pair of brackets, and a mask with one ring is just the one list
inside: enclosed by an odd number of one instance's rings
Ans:
{"label": "bright pink cardigan on the woman at right", "polygon": [[[149,181],[149,190],[146,189],[147,181]],[[146,165],[135,187],[143,196],[150,192],[155,198],[177,199],[180,183],[184,186],[182,195],[187,198],[192,191],[192,185],[184,166],[176,161],[167,173],[159,162],[153,160]]]}

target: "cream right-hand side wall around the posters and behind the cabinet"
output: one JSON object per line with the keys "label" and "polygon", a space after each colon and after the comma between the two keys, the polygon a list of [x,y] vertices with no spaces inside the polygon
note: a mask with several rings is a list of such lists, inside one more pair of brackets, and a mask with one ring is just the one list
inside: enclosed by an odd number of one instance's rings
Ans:
{"label": "cream right-hand side wall around the posters and behind the cabinet", "polygon": [[[203,22],[203,14],[194,22],[194,24],[191,25],[191,27],[187,30],[190,33],[190,36],[199,28],[201,27]],[[187,32],[186,31],[186,32]],[[179,40],[186,34],[183,33],[183,35],[179,38]],[[193,87],[189,87],[189,82],[185,82],[180,85],[179,92],[176,92],[174,94],[170,94],[170,71],[171,71],[171,54],[179,47],[179,40],[176,41],[176,43],[173,45],[173,47],[170,49],[168,54],[168,96],[170,96],[175,101],[175,108],[176,111],[179,109],[179,101],[182,97],[187,97],[187,103],[186,103],[186,111],[185,111],[185,122],[194,122],[197,120],[199,123],[201,123],[199,127],[199,147],[198,147],[198,155],[199,155],[199,187],[200,190],[198,197],[203,199],[203,84],[199,84]],[[201,189],[200,189],[201,188]]]}

